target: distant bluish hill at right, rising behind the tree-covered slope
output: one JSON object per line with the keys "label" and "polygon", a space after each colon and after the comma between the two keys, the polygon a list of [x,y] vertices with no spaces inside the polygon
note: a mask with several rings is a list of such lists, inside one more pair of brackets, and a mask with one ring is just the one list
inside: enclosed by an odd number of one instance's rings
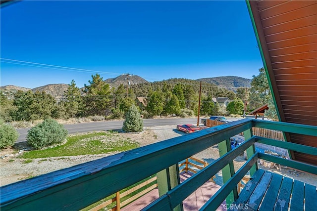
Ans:
{"label": "distant bluish hill at right, rising behind the tree-covered slope", "polygon": [[251,87],[252,79],[245,79],[237,76],[221,76],[214,78],[197,79],[196,81],[215,84],[217,86],[233,90],[234,88],[232,87]]}

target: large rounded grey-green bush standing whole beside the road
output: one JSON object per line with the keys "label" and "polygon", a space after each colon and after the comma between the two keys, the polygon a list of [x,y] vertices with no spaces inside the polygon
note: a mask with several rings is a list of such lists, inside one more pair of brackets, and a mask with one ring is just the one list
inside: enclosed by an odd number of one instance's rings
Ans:
{"label": "large rounded grey-green bush standing whole beside the road", "polygon": [[67,130],[55,120],[46,119],[43,123],[32,127],[26,136],[29,145],[36,149],[60,144],[65,140]]}

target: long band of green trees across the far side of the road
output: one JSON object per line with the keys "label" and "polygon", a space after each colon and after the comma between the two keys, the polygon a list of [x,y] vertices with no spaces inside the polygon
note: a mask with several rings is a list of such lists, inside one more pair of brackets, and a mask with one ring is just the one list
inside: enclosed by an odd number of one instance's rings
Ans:
{"label": "long band of green trees across the far side of the road", "polygon": [[[204,83],[201,94],[202,115],[243,114],[244,102],[251,111],[265,103],[272,106],[264,69],[253,76],[251,88],[238,88],[236,92]],[[68,84],[64,97],[60,101],[45,91],[17,91],[13,99],[0,92],[0,117],[5,122],[33,121],[38,119],[69,119],[87,116],[105,116],[108,119],[123,118],[136,97],[144,97],[146,106],[138,107],[145,118],[153,116],[179,115],[182,117],[197,115],[199,101],[199,82],[188,79],[171,79],[161,82],[132,85],[126,93],[126,86],[110,88],[99,75],[83,89],[77,87],[74,80]],[[228,97],[232,100],[227,108],[214,103],[214,97]],[[272,109],[273,110],[273,109]],[[274,113],[274,112],[273,112]],[[274,114],[273,114],[274,115]]]}

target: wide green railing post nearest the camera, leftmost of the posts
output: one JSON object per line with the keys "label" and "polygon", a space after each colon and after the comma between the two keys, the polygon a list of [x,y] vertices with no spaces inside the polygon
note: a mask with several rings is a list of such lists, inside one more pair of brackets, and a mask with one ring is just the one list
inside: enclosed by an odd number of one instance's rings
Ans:
{"label": "wide green railing post nearest the camera, leftmost of the posts", "polygon": [[[167,191],[180,184],[178,164],[175,164],[167,169],[161,170],[157,173],[159,197],[164,195]],[[176,206],[173,211],[183,211],[183,204]]]}

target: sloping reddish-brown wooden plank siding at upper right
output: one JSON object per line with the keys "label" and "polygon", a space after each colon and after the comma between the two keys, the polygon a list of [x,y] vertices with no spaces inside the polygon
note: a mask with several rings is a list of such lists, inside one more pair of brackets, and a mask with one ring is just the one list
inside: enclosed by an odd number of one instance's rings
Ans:
{"label": "sloping reddish-brown wooden plank siding at upper right", "polygon": [[[249,1],[282,122],[317,126],[317,1]],[[286,133],[317,147],[316,137]],[[316,156],[291,152],[314,163]]]}

